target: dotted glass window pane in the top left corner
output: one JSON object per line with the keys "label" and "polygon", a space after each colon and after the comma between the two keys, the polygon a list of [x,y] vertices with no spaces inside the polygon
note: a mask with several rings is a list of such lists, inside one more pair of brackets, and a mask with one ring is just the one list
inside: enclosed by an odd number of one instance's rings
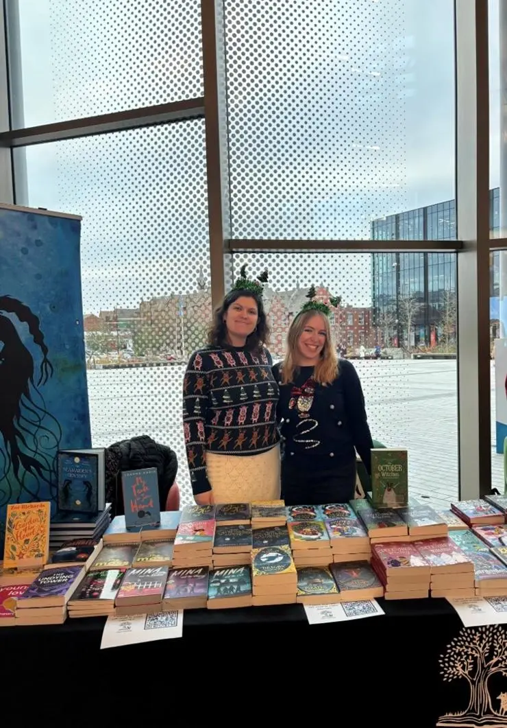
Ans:
{"label": "dotted glass window pane in the top left corner", "polygon": [[[203,94],[200,0],[21,0],[23,28],[40,13],[40,51],[51,76],[52,99],[41,100],[46,118],[59,122]],[[44,12],[44,9],[45,12]],[[28,16],[28,17],[27,17]],[[28,59],[29,60],[29,59]],[[36,76],[36,68],[25,74]],[[33,78],[24,86],[37,93]],[[25,93],[27,90],[25,89]]]}

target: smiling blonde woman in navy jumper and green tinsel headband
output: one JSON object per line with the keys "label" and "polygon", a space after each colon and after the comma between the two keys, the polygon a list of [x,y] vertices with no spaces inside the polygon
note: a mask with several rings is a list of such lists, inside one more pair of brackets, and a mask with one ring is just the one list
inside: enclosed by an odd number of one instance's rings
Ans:
{"label": "smiling blonde woman in navy jumper and green tinsel headband", "polygon": [[[330,307],[309,301],[290,325],[287,354],[274,365],[280,387],[276,416],[282,435],[282,497],[287,505],[354,498],[356,451],[371,472],[370,427],[354,365],[338,361]],[[330,299],[333,306],[338,298]]]}

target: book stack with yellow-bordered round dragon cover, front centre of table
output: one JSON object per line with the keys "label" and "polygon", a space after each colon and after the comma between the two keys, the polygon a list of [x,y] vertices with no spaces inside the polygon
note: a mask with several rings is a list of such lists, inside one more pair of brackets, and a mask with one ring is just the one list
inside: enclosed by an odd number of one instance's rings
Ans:
{"label": "book stack with yellow-bordered round dragon cover, front centre of table", "polygon": [[253,606],[295,604],[298,574],[290,546],[264,546],[252,550],[252,590]]}

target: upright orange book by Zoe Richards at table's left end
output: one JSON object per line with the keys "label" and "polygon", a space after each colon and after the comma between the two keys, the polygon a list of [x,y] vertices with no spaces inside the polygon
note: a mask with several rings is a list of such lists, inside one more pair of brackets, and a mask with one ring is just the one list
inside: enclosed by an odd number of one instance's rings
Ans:
{"label": "upright orange book by Zoe Richards at table's left end", "polygon": [[4,569],[33,569],[47,563],[50,518],[49,501],[7,506]]}

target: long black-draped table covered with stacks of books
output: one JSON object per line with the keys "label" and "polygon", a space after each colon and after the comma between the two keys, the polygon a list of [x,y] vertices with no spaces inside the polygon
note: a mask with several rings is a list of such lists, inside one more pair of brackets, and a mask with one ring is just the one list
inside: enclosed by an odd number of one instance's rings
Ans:
{"label": "long black-draped table covered with stacks of books", "polygon": [[[507,728],[507,497],[450,506],[186,505],[135,530],[116,516],[98,551],[65,542],[29,578],[9,534],[2,578],[23,591],[0,605],[4,721],[36,705],[57,724],[57,705],[87,727],[236,725],[308,720],[309,705],[314,720],[315,705],[346,728]],[[126,634],[140,643],[119,646]]]}

